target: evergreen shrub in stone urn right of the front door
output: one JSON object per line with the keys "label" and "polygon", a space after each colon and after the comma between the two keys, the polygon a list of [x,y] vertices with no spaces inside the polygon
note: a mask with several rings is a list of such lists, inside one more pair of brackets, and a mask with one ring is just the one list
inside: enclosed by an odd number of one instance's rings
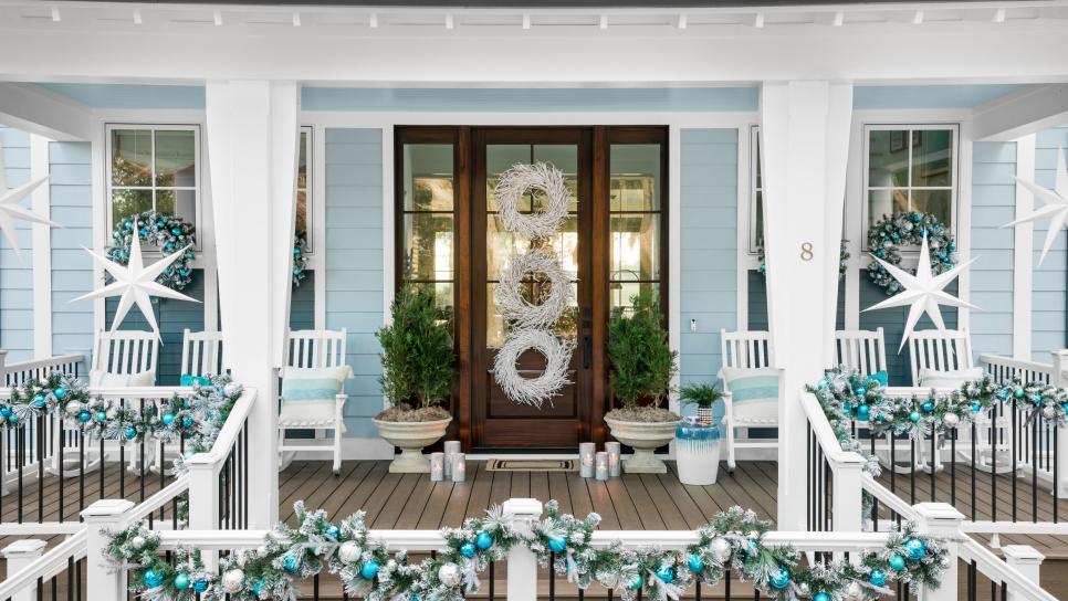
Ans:
{"label": "evergreen shrub in stone urn right of the front door", "polygon": [[663,474],[668,467],[653,451],[674,437],[679,415],[660,407],[678,370],[678,354],[668,346],[660,324],[660,303],[652,291],[630,298],[632,310],[616,309],[608,324],[609,383],[622,407],[605,415],[611,435],[634,449],[624,462],[628,473]]}

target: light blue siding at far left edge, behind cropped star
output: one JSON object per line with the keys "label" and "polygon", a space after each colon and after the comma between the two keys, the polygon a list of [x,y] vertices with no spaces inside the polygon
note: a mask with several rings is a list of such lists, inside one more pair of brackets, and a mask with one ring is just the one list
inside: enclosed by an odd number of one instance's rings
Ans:
{"label": "light blue siding at far left edge, behind cropped star", "polygon": [[[0,126],[4,180],[8,188],[30,181],[30,135]],[[30,199],[22,201],[30,207]],[[14,230],[22,254],[18,255],[6,235],[0,234],[0,348],[8,361],[33,358],[33,250],[31,225],[15,221]]]}

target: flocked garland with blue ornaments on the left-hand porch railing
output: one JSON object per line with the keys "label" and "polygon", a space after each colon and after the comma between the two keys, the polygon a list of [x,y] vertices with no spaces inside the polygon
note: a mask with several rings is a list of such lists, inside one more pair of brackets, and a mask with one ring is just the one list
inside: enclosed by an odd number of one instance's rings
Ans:
{"label": "flocked garland with blue ornaments on the left-hand porch railing", "polygon": [[[0,429],[21,428],[59,412],[67,428],[95,440],[172,442],[185,437],[187,454],[202,452],[211,449],[242,392],[241,384],[229,376],[210,376],[208,381],[207,386],[195,383],[188,398],[175,394],[142,409],[94,397],[81,380],[53,372],[12,389],[10,399],[0,401]],[[182,463],[181,457],[175,462],[179,473]]]}

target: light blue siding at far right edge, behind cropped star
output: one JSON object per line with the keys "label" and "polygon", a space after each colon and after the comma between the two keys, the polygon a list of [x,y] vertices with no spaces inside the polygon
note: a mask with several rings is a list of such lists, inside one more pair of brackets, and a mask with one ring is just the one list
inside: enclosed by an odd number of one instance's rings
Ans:
{"label": "light blue siding at far right edge, behind cropped star", "polygon": [[[1046,188],[1054,187],[1057,169],[1057,152],[1068,148],[1068,126],[1043,131],[1035,139],[1035,182]],[[1036,201],[1035,207],[1041,207]],[[1064,229],[1057,234],[1046,261],[1038,265],[1043,243],[1049,228],[1048,220],[1035,222],[1034,238],[1034,283],[1032,285],[1032,351],[1036,361],[1048,362],[1049,351],[1065,348],[1065,270],[1068,267],[1068,236]]]}

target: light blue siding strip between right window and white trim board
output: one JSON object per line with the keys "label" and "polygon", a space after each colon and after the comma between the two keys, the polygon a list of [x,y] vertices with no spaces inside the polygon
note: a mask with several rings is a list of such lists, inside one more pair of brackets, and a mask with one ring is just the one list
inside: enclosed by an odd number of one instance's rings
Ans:
{"label": "light blue siding strip between right window and white trim board", "polygon": [[972,158],[972,349],[1013,356],[1012,228],[1016,214],[1016,143],[975,143]]}

